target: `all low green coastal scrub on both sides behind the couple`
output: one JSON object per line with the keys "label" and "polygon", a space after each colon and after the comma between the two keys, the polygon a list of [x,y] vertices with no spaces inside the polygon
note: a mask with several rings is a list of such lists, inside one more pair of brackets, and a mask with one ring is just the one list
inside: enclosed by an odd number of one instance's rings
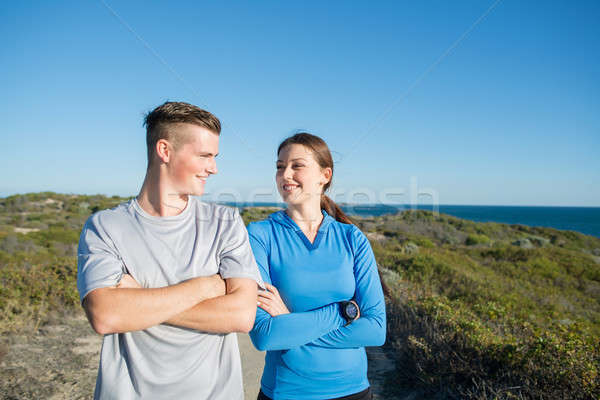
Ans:
{"label": "all low green coastal scrub on both sides behind the couple", "polygon": [[[81,228],[125,200],[50,192],[0,199],[2,337],[80,312]],[[247,208],[242,217],[273,211]],[[390,386],[425,398],[600,397],[599,238],[427,211],[355,221],[390,288]]]}

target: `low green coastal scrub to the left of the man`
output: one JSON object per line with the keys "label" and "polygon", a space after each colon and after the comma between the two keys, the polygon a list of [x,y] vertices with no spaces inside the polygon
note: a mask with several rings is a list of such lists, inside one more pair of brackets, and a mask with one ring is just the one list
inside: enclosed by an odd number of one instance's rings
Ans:
{"label": "low green coastal scrub to the left of the man", "polygon": [[77,242],[90,214],[126,199],[50,192],[0,199],[0,335],[73,312]]}

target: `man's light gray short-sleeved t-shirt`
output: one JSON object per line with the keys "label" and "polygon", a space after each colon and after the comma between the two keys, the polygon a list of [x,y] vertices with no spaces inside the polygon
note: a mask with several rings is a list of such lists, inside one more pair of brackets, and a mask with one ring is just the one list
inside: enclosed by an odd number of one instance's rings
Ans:
{"label": "man's light gray short-sleeved t-shirt", "polygon": [[[115,286],[124,273],[157,288],[219,273],[261,283],[236,209],[189,196],[184,211],[154,217],[135,199],[92,215],[81,233],[77,288]],[[243,398],[237,337],[161,324],[104,336],[95,399]]]}

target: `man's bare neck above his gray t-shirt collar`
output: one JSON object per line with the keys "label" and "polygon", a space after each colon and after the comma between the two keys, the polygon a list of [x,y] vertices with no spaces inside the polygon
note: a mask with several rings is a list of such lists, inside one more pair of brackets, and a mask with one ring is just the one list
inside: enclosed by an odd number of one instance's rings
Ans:
{"label": "man's bare neck above his gray t-shirt collar", "polygon": [[189,196],[176,193],[168,185],[161,184],[160,179],[150,171],[146,173],[144,184],[137,196],[137,202],[148,214],[155,217],[172,217],[185,210]]}

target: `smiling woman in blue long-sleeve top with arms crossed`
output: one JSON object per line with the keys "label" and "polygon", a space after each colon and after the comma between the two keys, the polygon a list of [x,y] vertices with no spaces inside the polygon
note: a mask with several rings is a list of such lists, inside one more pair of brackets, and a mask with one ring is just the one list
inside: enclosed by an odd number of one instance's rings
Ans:
{"label": "smiling woman in blue long-sleeve top with arms crossed", "polygon": [[284,211],[248,226],[267,290],[250,337],[267,350],[262,399],[370,399],[364,346],[385,341],[385,302],[373,251],[325,195],[333,160],[299,133],[277,150]]}

